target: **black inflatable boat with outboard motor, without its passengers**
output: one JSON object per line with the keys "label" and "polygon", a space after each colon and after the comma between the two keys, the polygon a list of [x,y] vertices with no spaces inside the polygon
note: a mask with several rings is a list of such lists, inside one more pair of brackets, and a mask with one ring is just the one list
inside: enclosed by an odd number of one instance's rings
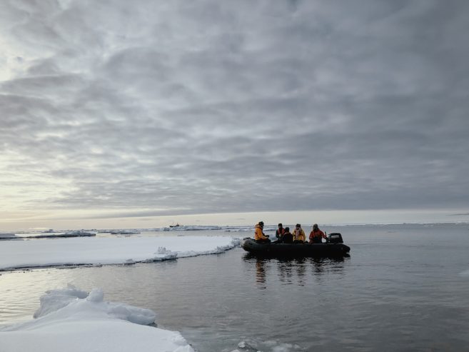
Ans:
{"label": "black inflatable boat with outboard motor, without its passengers", "polygon": [[327,243],[259,243],[247,237],[241,241],[241,247],[256,256],[348,256],[350,252],[341,233],[329,233]]}

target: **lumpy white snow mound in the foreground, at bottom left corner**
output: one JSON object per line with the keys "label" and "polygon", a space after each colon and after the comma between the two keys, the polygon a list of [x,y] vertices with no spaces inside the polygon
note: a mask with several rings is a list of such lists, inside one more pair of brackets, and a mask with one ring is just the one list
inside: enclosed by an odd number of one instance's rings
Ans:
{"label": "lumpy white snow mound in the foreground, at bottom left corner", "polygon": [[153,323],[153,311],[103,298],[100,289],[48,291],[37,319],[0,331],[0,351],[193,352],[180,333],[143,325]]}

